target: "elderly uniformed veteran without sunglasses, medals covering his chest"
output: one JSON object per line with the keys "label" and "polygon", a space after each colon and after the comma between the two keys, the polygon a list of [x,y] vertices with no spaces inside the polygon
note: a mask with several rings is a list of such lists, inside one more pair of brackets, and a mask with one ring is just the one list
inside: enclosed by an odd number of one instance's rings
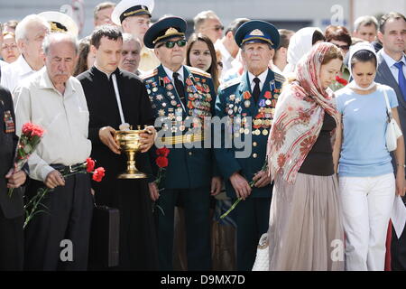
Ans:
{"label": "elderly uniformed veteran without sunglasses, medals covering his chest", "polygon": [[[278,30],[271,23],[244,23],[235,33],[235,42],[242,49],[247,71],[219,89],[216,116],[228,117],[233,124],[222,132],[224,138],[231,136],[233,146],[217,149],[216,159],[226,180],[227,196],[243,199],[235,209],[237,269],[248,271],[253,268],[258,241],[268,229],[272,186],[262,168],[284,78],[268,68],[280,42]],[[241,153],[238,143],[246,144],[245,151],[251,148],[250,154],[237,156]]]}

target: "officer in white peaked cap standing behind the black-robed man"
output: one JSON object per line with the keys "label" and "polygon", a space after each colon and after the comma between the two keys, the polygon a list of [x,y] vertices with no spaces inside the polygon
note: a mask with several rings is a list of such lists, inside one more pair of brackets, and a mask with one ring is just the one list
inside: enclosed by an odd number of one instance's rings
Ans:
{"label": "officer in white peaked cap standing behind the black-robed man", "polygon": [[[111,19],[123,27],[124,33],[133,34],[143,45],[143,35],[150,27],[153,7],[154,0],[123,0],[115,6]],[[153,70],[160,64],[153,51],[143,46],[139,70]]]}

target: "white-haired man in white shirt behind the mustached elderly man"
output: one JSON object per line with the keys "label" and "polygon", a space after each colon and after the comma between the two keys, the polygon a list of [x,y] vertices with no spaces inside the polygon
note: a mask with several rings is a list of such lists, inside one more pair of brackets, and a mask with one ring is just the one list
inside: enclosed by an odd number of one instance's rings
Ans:
{"label": "white-haired man in white shirt behind the mustached elderly man", "polygon": [[1,85],[13,92],[23,79],[43,67],[42,41],[50,32],[50,23],[36,14],[26,16],[15,28],[15,41],[22,52],[2,71]]}

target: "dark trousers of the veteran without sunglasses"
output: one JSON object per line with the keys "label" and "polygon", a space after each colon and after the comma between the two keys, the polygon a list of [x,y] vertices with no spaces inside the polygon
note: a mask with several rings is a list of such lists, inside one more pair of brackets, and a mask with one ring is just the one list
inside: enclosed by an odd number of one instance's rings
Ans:
{"label": "dark trousers of the veteran without sunglasses", "polygon": [[253,269],[259,239],[268,231],[270,207],[271,198],[248,198],[236,206],[238,271]]}

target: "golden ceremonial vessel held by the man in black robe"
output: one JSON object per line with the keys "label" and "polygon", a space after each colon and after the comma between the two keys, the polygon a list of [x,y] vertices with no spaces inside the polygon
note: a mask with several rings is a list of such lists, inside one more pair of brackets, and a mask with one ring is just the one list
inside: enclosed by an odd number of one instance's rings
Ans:
{"label": "golden ceremonial vessel held by the man in black robe", "polygon": [[115,132],[115,142],[127,154],[127,171],[118,175],[118,179],[144,179],[147,175],[138,171],[135,166],[135,154],[141,151],[141,134],[147,133],[138,126],[137,130],[118,130]]}

